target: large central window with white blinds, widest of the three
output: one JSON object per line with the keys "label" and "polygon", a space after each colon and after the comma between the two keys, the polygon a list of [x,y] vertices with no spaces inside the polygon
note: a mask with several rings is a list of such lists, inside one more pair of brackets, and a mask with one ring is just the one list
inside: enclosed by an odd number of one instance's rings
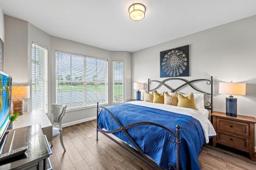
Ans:
{"label": "large central window with white blinds, widest of the three", "polygon": [[108,104],[108,61],[56,52],[56,103],[67,110]]}

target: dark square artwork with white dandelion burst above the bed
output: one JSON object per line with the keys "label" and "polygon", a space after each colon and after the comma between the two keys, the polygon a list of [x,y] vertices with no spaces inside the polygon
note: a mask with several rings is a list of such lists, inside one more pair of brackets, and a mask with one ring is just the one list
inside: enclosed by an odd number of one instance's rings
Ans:
{"label": "dark square artwork with white dandelion burst above the bed", "polygon": [[189,45],[160,52],[160,77],[189,76]]}

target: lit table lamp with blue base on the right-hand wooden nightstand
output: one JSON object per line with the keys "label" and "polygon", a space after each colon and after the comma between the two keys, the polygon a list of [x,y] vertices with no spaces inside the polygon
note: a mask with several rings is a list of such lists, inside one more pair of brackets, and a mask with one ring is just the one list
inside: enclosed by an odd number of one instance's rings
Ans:
{"label": "lit table lamp with blue base on the right-hand wooden nightstand", "polygon": [[237,98],[233,95],[245,95],[246,83],[225,83],[220,82],[219,93],[229,94],[230,96],[226,98],[226,115],[237,116]]}

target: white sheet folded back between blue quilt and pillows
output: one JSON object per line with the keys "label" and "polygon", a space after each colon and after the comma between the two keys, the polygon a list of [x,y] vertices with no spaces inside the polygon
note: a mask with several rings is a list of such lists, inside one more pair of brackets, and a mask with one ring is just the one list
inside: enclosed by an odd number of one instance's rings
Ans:
{"label": "white sheet folded back between blue quilt and pillows", "polygon": [[[169,112],[174,112],[174,113],[184,114],[184,115],[194,117],[195,119],[197,119],[199,121],[199,123],[202,126],[206,143],[209,142],[209,136],[216,135],[214,127],[211,125],[210,120],[208,119],[208,116],[206,117],[204,115],[204,113],[202,113],[201,110],[199,111],[199,110],[194,110],[194,109],[189,109],[189,108],[184,108],[184,107],[164,105],[164,104],[159,104],[159,103],[143,102],[143,101],[132,101],[132,102],[128,102],[128,103],[134,104],[134,105],[139,105],[139,106],[161,109],[161,110],[165,110],[165,111],[169,111]],[[208,112],[208,114],[209,114],[209,112]]]}

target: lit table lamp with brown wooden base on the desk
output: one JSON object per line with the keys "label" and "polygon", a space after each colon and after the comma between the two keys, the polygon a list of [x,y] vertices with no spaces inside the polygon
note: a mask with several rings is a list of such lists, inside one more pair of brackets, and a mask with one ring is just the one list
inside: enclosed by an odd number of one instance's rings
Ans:
{"label": "lit table lamp with brown wooden base on the desk", "polygon": [[30,98],[30,86],[12,86],[13,113],[23,114],[23,100]]}

